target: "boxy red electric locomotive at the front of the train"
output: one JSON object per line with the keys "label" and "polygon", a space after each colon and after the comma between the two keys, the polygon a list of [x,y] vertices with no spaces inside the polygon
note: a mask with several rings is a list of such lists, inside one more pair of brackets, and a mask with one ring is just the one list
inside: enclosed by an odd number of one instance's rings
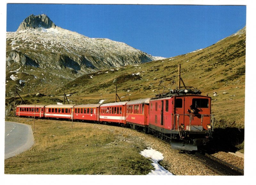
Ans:
{"label": "boxy red electric locomotive at the front of the train", "polygon": [[[174,149],[197,150],[212,137],[211,97],[197,89],[178,89],[149,101],[149,129],[171,139]],[[178,144],[182,141],[183,144]]]}

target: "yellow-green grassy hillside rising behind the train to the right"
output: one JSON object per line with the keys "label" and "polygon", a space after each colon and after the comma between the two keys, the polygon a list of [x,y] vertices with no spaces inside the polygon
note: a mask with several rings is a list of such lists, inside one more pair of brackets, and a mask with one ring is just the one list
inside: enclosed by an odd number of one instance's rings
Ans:
{"label": "yellow-green grassy hillside rising behind the train to the right", "polygon": [[[201,89],[202,95],[212,96],[216,127],[244,128],[245,39],[245,31],[238,32],[192,53],[98,71],[67,83],[59,82],[60,86],[37,89],[37,92],[52,97],[34,94],[23,97],[26,103],[50,104],[63,102],[65,92],[72,95],[68,99],[73,104],[98,103],[100,100],[110,103],[115,101],[115,85],[122,101],[154,97],[177,87],[178,64],[181,64],[185,84]],[[218,96],[213,96],[213,92]],[[11,101],[12,98],[7,97],[6,102]]]}

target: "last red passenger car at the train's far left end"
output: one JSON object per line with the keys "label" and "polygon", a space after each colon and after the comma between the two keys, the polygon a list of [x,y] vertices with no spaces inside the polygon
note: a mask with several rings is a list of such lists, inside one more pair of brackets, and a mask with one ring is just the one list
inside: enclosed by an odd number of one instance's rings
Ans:
{"label": "last red passenger car at the train's far left end", "polygon": [[44,117],[45,105],[17,105],[16,116]]}

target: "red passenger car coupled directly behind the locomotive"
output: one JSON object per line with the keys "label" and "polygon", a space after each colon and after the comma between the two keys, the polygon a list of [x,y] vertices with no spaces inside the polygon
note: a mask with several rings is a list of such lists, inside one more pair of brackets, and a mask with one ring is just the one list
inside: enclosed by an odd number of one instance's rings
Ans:
{"label": "red passenger car coupled directly behind the locomotive", "polygon": [[137,127],[148,127],[150,98],[132,100],[126,104],[126,123]]}

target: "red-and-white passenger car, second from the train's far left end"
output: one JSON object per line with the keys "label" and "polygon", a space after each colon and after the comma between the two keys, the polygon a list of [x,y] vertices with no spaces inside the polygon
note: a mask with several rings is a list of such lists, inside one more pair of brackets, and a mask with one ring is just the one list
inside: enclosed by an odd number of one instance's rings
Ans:
{"label": "red-and-white passenger car, second from the train's far left end", "polygon": [[46,105],[44,117],[67,118],[72,119],[73,107],[75,105]]}

